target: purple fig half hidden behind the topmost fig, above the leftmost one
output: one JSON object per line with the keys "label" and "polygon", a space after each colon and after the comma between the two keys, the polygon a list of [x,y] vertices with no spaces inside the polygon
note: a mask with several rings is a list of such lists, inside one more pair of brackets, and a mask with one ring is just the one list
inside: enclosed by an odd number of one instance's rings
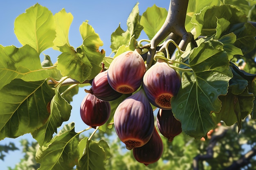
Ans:
{"label": "purple fig half hidden behind the topmost fig, above the leftmost one", "polygon": [[122,94],[115,91],[108,83],[108,70],[99,73],[92,81],[91,93],[98,99],[113,101]]}

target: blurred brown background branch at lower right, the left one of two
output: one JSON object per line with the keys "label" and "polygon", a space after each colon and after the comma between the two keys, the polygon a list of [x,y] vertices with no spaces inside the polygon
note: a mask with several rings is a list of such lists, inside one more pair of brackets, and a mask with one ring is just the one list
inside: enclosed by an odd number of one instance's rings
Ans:
{"label": "blurred brown background branch at lower right, the left one of two", "polygon": [[193,170],[199,170],[199,166],[198,163],[199,161],[204,161],[207,159],[212,159],[213,158],[213,148],[216,146],[217,142],[225,136],[226,132],[227,132],[227,127],[225,126],[219,126],[218,127],[218,131],[211,137],[210,141],[209,141],[209,145],[206,148],[206,154],[205,155],[197,155],[196,157],[194,157],[193,159]]}

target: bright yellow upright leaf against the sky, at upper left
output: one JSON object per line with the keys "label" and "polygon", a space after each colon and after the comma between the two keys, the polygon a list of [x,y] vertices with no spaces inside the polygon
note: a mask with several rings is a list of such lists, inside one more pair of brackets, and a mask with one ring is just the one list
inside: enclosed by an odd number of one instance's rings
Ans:
{"label": "bright yellow upright leaf against the sky, at upper left", "polygon": [[54,20],[56,23],[56,39],[54,40],[54,46],[52,48],[59,50],[58,46],[64,46],[65,44],[70,46],[68,32],[73,21],[73,15],[67,13],[63,8],[54,15]]}

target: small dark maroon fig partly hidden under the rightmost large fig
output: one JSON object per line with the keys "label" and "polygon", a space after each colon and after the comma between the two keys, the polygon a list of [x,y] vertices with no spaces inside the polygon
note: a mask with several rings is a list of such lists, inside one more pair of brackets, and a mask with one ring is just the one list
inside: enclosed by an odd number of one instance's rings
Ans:
{"label": "small dark maroon fig partly hidden under the rightmost large fig", "polygon": [[169,142],[173,141],[173,138],[182,132],[181,123],[175,119],[172,110],[158,110],[157,127],[159,132],[166,137]]}

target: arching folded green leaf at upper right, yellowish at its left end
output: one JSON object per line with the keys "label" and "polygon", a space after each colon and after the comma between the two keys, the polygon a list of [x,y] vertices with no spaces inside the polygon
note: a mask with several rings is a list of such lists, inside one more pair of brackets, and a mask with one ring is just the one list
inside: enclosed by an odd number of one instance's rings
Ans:
{"label": "arching folded green leaf at upper right, yellowish at its left end", "polygon": [[[197,38],[199,35],[212,35],[216,33],[217,20],[223,18],[230,25],[247,22],[247,16],[231,5],[205,7],[200,13],[193,15],[191,22],[195,26]],[[223,20],[222,19],[222,20]]]}

